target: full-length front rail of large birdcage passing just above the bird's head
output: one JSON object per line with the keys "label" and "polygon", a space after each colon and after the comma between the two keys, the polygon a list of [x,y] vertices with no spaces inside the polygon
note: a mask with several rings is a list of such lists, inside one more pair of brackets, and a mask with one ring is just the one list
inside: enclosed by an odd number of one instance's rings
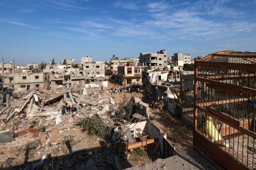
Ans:
{"label": "full-length front rail of large birdcage passing just above the bird's head", "polygon": [[[211,115],[212,117],[214,117],[214,118],[216,118],[216,119],[218,119],[218,120],[220,120],[220,121],[222,121],[222,122],[224,122],[224,123],[226,123],[226,124],[228,124],[229,126],[231,126],[231,127],[235,128],[235,129],[239,130],[240,132],[243,132],[243,133],[245,133],[246,135],[248,135],[248,136],[250,136],[250,137],[256,139],[256,133],[254,133],[254,132],[252,132],[252,131],[249,131],[248,129],[244,129],[244,128],[240,127],[240,126],[236,126],[235,124],[232,124],[231,122],[227,121],[226,119],[223,119],[223,118],[221,118],[221,117],[219,117],[219,116],[213,114],[212,112],[208,111],[208,110],[205,109],[204,107],[200,107],[200,106],[198,106],[198,105],[195,105],[195,108],[196,108],[196,109],[199,109],[200,111],[202,111],[202,112],[204,112],[204,113],[207,113],[207,114]],[[194,120],[195,120],[195,117],[194,117]]]}

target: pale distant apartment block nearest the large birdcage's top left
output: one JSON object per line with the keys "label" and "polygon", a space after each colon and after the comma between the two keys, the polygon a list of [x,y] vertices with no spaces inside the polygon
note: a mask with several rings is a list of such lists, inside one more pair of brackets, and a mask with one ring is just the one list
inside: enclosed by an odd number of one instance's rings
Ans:
{"label": "pale distant apartment block nearest the large birdcage's top left", "polygon": [[191,55],[190,54],[184,55],[183,53],[180,53],[180,52],[173,54],[173,56],[172,56],[172,65],[173,66],[181,67],[186,63],[188,63],[188,64],[191,63]]}

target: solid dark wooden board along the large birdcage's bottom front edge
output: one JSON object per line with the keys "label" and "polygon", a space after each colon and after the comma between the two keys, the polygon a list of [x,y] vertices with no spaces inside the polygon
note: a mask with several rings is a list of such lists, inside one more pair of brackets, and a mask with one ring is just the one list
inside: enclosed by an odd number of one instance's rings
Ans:
{"label": "solid dark wooden board along the large birdcage's bottom front edge", "polygon": [[224,166],[224,168],[234,170],[247,169],[243,164],[229,156],[227,152],[222,151],[217,145],[206,139],[199,132],[196,131],[194,138],[196,145],[215,159],[220,165]]}

